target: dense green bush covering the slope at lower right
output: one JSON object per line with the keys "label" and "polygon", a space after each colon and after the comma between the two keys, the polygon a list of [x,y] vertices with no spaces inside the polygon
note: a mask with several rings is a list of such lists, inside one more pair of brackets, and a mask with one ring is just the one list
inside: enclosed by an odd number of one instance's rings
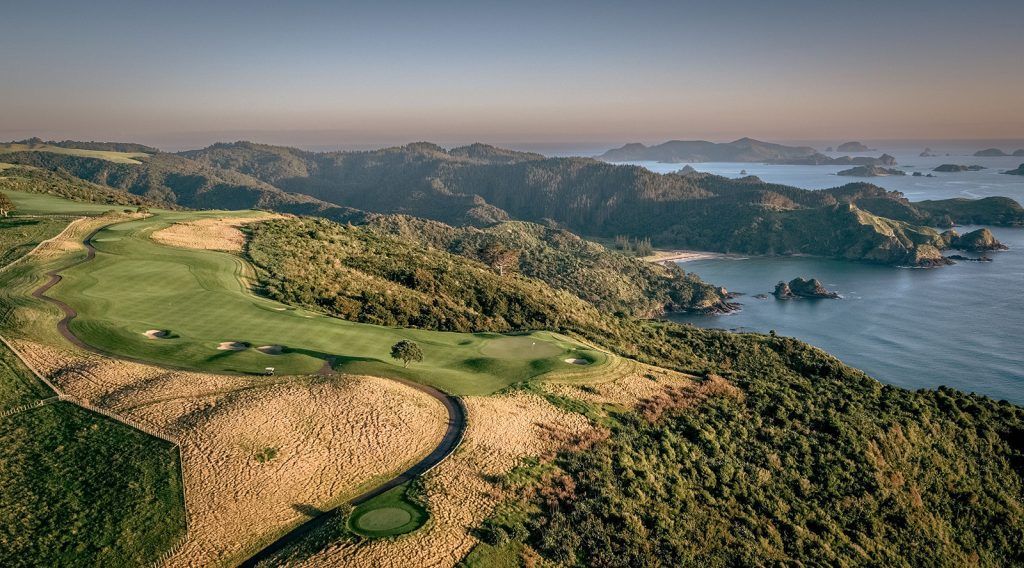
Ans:
{"label": "dense green bush covering the slope at lower right", "polygon": [[637,342],[651,360],[736,390],[614,416],[517,487],[486,542],[566,566],[1024,562],[1021,407],[884,386],[792,339],[659,327],[672,356]]}

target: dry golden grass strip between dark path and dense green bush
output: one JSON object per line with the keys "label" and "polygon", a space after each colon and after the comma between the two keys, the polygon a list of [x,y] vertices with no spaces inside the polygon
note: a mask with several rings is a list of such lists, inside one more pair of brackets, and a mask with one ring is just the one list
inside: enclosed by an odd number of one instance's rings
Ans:
{"label": "dry golden grass strip between dark path and dense green bush", "polygon": [[307,566],[455,566],[477,543],[470,533],[502,500],[494,482],[526,456],[600,437],[584,417],[543,398],[514,393],[467,397],[469,428],[462,447],[424,479],[430,521],[394,539],[339,542],[307,559]]}

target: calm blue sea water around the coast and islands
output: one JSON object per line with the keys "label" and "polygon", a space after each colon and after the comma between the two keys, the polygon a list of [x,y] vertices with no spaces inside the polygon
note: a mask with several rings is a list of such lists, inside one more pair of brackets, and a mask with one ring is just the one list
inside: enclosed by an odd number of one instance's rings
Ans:
{"label": "calm blue sea water around the coast and islands", "polygon": [[[876,146],[877,147],[877,146]],[[935,173],[934,178],[883,177],[868,181],[903,191],[911,201],[1006,195],[1024,202],[1024,177],[998,172],[1024,158],[974,158],[981,147],[943,149],[953,156],[920,158],[922,147],[886,148],[907,171],[939,164],[978,164],[981,172]],[[1006,147],[1012,151],[1019,146]],[[933,146],[935,148],[935,146]],[[939,149],[939,148],[936,148]],[[878,156],[879,152],[870,152]],[[642,164],[658,172],[682,164]],[[912,167],[908,167],[912,166]],[[740,170],[770,182],[824,188],[859,178],[836,176],[829,166],[693,164],[700,171],[736,177]],[[976,227],[961,227],[967,231]],[[893,268],[819,258],[720,258],[681,263],[707,281],[744,295],[731,315],[674,315],[702,327],[799,338],[876,379],[908,389],[941,385],[1024,404],[1024,228],[990,227],[1009,251],[992,262],[959,262],[936,269]],[[841,300],[778,301],[779,280],[816,277]]]}

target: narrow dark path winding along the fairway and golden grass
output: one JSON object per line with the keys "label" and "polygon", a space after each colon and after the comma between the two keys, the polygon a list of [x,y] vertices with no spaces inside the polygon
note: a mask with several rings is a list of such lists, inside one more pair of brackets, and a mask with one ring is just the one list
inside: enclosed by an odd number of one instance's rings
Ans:
{"label": "narrow dark path winding along the fairway and golden grass", "polygon": [[[60,311],[63,312],[63,317],[60,319],[60,321],[57,322],[57,331],[65,339],[67,339],[75,346],[84,349],[86,351],[89,351],[91,353],[103,355],[105,357],[124,359],[138,363],[154,364],[151,361],[145,361],[142,359],[136,359],[133,357],[125,357],[121,355],[115,355],[113,353],[108,353],[101,349],[98,349],[96,347],[93,347],[85,343],[84,341],[79,339],[78,336],[72,333],[71,329],[69,327],[69,323],[71,322],[71,320],[78,315],[78,312],[75,311],[75,308],[72,308],[71,306],[61,302],[60,300],[46,296],[46,292],[48,292],[51,288],[56,286],[56,283],[61,280],[62,278],[60,276],[61,271],[67,270],[73,266],[78,266],[79,264],[84,264],[96,258],[96,249],[95,247],[92,246],[92,238],[96,235],[96,233],[98,233],[105,227],[106,225],[96,228],[83,239],[82,244],[85,246],[86,249],[85,258],[76,260],[70,264],[67,264],[65,266],[46,272],[45,275],[49,276],[49,279],[42,286],[37,288],[35,291],[33,291],[32,296],[33,298],[50,302],[51,304],[54,304],[55,306],[60,308]],[[333,368],[333,360],[331,359],[325,360],[324,366],[321,369],[321,375],[331,376],[334,374],[335,370]],[[445,457],[451,455],[456,450],[456,448],[459,447],[459,444],[462,443],[462,439],[466,433],[466,424],[467,424],[466,406],[463,403],[462,399],[460,399],[457,396],[453,396],[447,393],[441,392],[440,390],[435,389],[433,387],[429,387],[427,385],[421,385],[413,381],[407,381],[404,379],[392,379],[392,378],[387,378],[387,379],[389,381],[401,383],[402,385],[406,385],[420,392],[423,392],[427,395],[430,395],[438,402],[440,402],[441,405],[444,406],[444,409],[447,411],[449,414],[447,428],[444,431],[444,436],[441,438],[440,443],[437,444],[437,446],[430,453],[428,453],[425,457],[423,457],[423,460],[420,460],[413,467],[409,468],[408,470],[397,475],[396,477],[393,477],[390,480],[384,482],[383,484],[378,485],[377,487],[358,496],[353,497],[348,501],[353,506],[366,503],[380,494],[383,494],[384,492],[390,489],[393,489],[401,485],[402,483],[412,481],[413,479],[416,479],[417,477],[429,472],[438,464],[443,462]],[[339,514],[340,514],[339,508],[334,508],[312,517],[308,521],[302,523],[301,525],[295,527],[285,535],[281,536],[280,538],[278,538],[276,540],[265,547],[260,552],[256,553],[252,558],[244,562],[242,566],[246,567],[256,566],[257,563],[271,557],[275,553],[282,551],[288,544],[298,541],[303,536],[311,532],[313,529],[323,525],[324,523],[332,519],[334,516]]]}

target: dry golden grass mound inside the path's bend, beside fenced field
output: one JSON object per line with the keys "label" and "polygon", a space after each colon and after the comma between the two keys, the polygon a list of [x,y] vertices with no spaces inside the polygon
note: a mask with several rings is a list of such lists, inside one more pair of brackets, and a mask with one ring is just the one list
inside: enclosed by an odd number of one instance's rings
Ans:
{"label": "dry golden grass mound inside the path's bend, beside fenced field", "polygon": [[316,509],[415,463],[447,423],[436,400],[385,379],[167,370],[16,343],[72,396],[179,439],[189,531],[171,566],[243,560]]}

